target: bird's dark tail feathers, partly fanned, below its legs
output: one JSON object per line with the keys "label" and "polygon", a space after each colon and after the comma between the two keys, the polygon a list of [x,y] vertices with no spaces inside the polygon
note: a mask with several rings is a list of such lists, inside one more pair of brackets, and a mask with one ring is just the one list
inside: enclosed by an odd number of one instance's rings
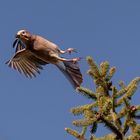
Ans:
{"label": "bird's dark tail feathers, partly fanned, below its legs", "polygon": [[78,62],[60,62],[56,64],[59,70],[65,75],[65,77],[70,81],[72,86],[76,89],[80,87],[83,79],[82,74],[78,65]]}

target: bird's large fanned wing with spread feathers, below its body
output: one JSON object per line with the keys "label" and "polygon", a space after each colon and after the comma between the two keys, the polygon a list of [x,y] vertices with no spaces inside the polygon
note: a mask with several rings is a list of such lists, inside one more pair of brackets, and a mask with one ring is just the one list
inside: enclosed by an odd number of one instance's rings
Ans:
{"label": "bird's large fanned wing with spread feathers, below its body", "polygon": [[7,61],[6,64],[26,77],[32,78],[33,76],[36,77],[36,73],[40,74],[39,70],[43,69],[42,65],[47,63],[37,58],[31,51],[22,49]]}

